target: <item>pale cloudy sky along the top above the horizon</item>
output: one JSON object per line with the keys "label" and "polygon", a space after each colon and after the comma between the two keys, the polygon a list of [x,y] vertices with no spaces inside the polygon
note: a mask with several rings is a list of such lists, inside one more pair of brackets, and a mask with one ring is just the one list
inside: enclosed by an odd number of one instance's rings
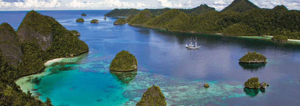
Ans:
{"label": "pale cloudy sky along the top above the horizon", "polygon": [[[112,10],[115,8],[194,8],[207,4],[221,11],[233,0],[0,0],[0,11],[29,10]],[[300,0],[249,0],[261,8],[284,5],[300,10]]]}

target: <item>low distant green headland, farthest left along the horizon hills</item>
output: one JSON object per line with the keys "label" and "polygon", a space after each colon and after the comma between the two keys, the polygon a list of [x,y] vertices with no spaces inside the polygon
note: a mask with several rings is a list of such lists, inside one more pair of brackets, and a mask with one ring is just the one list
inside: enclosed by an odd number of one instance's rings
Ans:
{"label": "low distant green headland, farthest left along the horizon hills", "polygon": [[140,12],[138,9],[113,9],[112,11],[104,14],[104,16],[130,16],[130,15],[136,15]]}

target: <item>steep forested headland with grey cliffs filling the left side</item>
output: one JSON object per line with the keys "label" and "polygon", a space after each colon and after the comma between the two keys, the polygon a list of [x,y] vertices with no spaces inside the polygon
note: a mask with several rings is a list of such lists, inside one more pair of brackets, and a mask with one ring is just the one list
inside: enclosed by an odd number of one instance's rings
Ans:
{"label": "steep forested headland with grey cliffs filling the left side", "polygon": [[0,105],[51,106],[50,99],[44,103],[24,93],[13,80],[41,71],[48,60],[86,52],[88,45],[53,17],[33,10],[27,12],[17,32],[8,23],[0,27]]}

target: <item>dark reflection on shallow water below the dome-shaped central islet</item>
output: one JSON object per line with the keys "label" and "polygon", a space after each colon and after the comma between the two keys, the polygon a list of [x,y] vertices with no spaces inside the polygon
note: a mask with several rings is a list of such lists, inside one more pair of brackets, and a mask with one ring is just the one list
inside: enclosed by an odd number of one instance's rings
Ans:
{"label": "dark reflection on shallow water below the dome-shaped central islet", "polygon": [[135,76],[137,75],[137,72],[138,70],[132,70],[132,71],[109,70],[109,73],[111,73],[114,78],[116,78],[118,81],[121,81],[123,84],[128,84],[129,82],[133,81],[135,79]]}

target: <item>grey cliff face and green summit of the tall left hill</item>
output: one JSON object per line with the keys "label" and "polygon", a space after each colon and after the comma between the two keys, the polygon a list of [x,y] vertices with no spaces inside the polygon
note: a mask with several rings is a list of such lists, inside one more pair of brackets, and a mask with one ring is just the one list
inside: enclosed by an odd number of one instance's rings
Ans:
{"label": "grey cliff face and green summit of the tall left hill", "polygon": [[53,39],[49,21],[54,20],[50,16],[43,16],[32,10],[24,17],[17,30],[17,35],[21,41],[36,42],[43,50],[46,50],[51,46]]}

